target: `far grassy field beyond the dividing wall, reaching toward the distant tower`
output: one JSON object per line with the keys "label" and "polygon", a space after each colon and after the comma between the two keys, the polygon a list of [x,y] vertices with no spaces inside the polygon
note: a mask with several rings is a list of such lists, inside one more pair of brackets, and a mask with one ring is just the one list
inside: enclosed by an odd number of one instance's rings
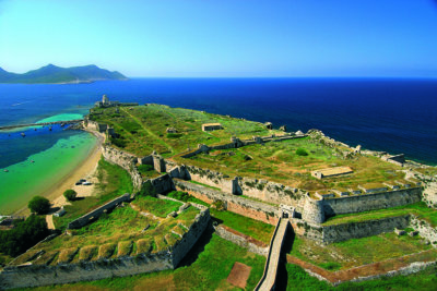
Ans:
{"label": "far grassy field beyond the dividing wall, reaching toward the distant tower", "polygon": [[[198,144],[228,143],[231,136],[251,138],[253,135],[269,135],[276,131],[267,130],[261,123],[232,117],[163,105],[147,105],[119,109],[94,108],[90,119],[109,124],[120,136],[113,144],[138,156],[150,155],[153,150],[164,157],[197,148]],[[203,132],[203,123],[218,122],[224,130]],[[177,133],[167,133],[174,128]]]}

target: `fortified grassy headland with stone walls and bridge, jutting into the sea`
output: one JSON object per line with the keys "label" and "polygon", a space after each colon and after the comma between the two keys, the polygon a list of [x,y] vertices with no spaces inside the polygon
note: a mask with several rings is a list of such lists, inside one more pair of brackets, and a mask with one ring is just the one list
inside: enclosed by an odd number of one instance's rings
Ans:
{"label": "fortified grassy headland with stone walls and bridge, jutting into the sea", "polygon": [[5,256],[0,289],[430,282],[437,168],[277,125],[104,95],[82,123],[104,140],[101,192],[79,193],[54,214],[50,237]]}

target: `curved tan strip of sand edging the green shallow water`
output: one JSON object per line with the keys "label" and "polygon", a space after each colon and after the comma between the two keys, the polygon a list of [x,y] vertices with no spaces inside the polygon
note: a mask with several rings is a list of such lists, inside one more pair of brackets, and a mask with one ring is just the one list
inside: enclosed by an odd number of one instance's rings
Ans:
{"label": "curved tan strip of sand edging the green shallow water", "polygon": [[[90,151],[87,157],[75,168],[71,169],[58,182],[54,183],[48,190],[35,193],[35,195],[48,198],[52,204],[52,207],[59,207],[61,205],[64,205],[67,202],[63,198],[63,192],[68,189],[73,189],[78,180],[83,179],[84,177],[93,175],[97,169],[98,160],[102,157],[101,146],[104,138],[103,136],[96,135],[93,132],[86,130],[85,132],[93,134],[97,138],[96,144],[94,145],[93,149]],[[78,192],[78,196],[81,196],[81,193]],[[28,216],[29,214],[31,211],[27,208],[27,205],[13,213],[14,216]]]}

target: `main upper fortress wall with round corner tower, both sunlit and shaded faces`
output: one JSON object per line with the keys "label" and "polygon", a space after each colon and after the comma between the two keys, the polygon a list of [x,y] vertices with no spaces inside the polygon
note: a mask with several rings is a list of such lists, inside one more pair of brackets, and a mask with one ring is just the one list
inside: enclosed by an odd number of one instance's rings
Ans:
{"label": "main upper fortress wall with round corner tower, both sunlit and shaded faces", "polygon": [[[172,163],[172,166],[174,166],[174,163]],[[177,170],[175,170],[176,168]],[[205,185],[214,186],[220,189],[220,192],[222,193],[237,194],[223,196],[217,194],[217,192],[212,192],[217,195],[215,199],[229,199],[229,197],[236,197],[239,194],[244,194],[262,202],[276,205],[285,204],[300,213],[304,220],[314,223],[322,223],[326,218],[334,215],[383,209],[413,204],[422,199],[422,189],[410,187],[317,201],[312,199],[309,195],[304,194],[302,190],[265,180],[251,178],[231,179],[223,173],[204,170],[193,166],[175,167],[173,171],[175,171],[173,175],[174,178],[192,180]],[[200,187],[198,186],[196,191],[200,191],[199,189]],[[209,199],[215,201],[212,193],[208,195]],[[247,198],[241,199],[248,201]],[[279,215],[281,214],[280,211],[276,213]]]}

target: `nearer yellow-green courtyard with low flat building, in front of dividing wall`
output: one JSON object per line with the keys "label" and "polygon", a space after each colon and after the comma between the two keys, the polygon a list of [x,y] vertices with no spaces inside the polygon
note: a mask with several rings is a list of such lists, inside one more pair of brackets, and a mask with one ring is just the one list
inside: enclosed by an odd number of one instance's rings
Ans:
{"label": "nearer yellow-green courtyard with low flat building, in front of dividing wall", "polygon": [[[296,154],[298,149],[304,149],[308,155]],[[357,156],[354,159],[344,159],[334,149],[310,137],[212,150],[189,159],[179,157],[176,160],[231,177],[267,179],[308,191],[356,189],[361,184],[394,181],[404,177],[403,172],[398,171],[398,166],[377,157]],[[351,167],[354,172],[322,180],[310,174],[314,170],[342,166]]]}

